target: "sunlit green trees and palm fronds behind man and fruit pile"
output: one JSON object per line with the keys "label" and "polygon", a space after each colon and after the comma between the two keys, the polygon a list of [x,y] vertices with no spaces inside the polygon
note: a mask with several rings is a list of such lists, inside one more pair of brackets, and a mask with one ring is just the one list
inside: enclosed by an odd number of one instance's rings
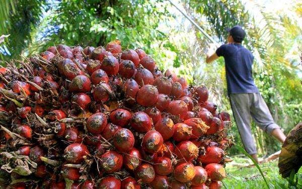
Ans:
{"label": "sunlit green trees and palm fronds behind man and fruit pile", "polygon": [[[205,65],[209,41],[165,0],[2,0],[2,64],[50,45],[100,46],[119,39],[124,48],[142,47],[162,68],[173,68],[191,84],[205,84],[219,110],[228,110],[223,59]],[[227,27],[242,25],[244,45],[254,56],[254,78],[274,119],[287,133],[301,121],[302,3],[299,1],[174,1],[217,42]],[[265,3],[265,4],[264,4]],[[278,6],[281,4],[281,6]],[[301,48],[301,46],[300,46]],[[233,119],[234,120],[234,119]],[[267,155],[280,145],[253,125],[258,151]],[[237,143],[236,124],[231,131]],[[230,155],[238,154],[235,148]]]}

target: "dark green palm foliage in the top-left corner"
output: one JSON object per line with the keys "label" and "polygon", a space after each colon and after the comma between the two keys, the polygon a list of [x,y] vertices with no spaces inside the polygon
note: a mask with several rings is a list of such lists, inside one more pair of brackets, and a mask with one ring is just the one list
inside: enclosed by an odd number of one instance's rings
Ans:
{"label": "dark green palm foliage in the top-left corner", "polygon": [[3,44],[5,46],[1,48],[5,56],[0,54],[0,60],[17,58],[30,44],[30,34],[39,24],[42,12],[46,8],[45,1],[38,0],[5,1],[4,5],[6,7],[1,6],[4,10],[0,10],[0,18],[6,19],[4,22],[0,20],[0,34],[11,35]]}

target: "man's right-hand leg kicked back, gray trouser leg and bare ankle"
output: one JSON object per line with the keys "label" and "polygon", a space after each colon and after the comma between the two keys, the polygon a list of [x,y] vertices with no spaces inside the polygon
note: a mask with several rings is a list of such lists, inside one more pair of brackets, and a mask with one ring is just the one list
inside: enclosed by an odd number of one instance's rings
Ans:
{"label": "man's right-hand leg kicked back, gray trouser leg and bare ankle", "polygon": [[281,131],[279,125],[274,122],[274,119],[265,101],[259,93],[253,93],[253,104],[251,106],[251,114],[257,125],[263,131],[275,137],[279,142],[284,143],[286,137]]}

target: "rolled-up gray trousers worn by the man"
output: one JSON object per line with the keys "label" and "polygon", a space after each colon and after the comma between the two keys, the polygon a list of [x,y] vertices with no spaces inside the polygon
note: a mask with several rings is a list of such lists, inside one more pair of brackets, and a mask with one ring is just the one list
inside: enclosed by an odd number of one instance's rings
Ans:
{"label": "rolled-up gray trousers worn by the man", "polygon": [[251,132],[251,117],[258,127],[271,134],[277,125],[260,93],[230,94],[233,115],[242,143],[249,154],[256,154],[256,144]]}

